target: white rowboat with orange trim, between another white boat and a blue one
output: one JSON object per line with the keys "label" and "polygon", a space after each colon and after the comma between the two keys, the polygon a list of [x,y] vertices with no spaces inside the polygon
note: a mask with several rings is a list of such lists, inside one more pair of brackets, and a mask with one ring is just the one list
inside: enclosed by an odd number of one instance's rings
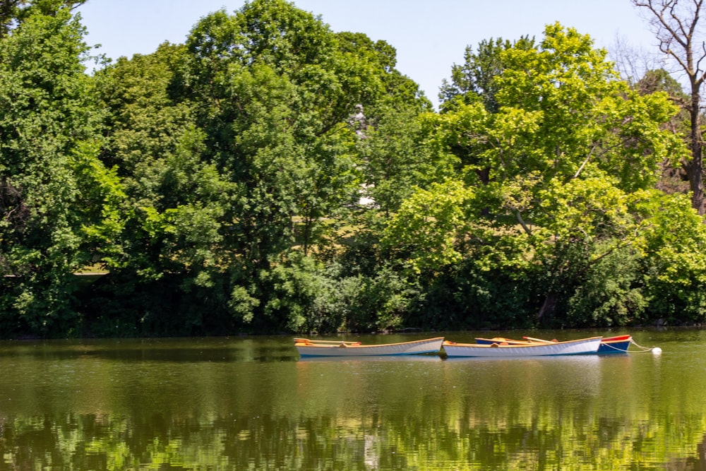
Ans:
{"label": "white rowboat with orange trim, between another white boat and a blue one", "polygon": [[597,353],[602,337],[582,338],[566,342],[509,343],[443,342],[448,357],[538,357],[545,355],[578,355]]}

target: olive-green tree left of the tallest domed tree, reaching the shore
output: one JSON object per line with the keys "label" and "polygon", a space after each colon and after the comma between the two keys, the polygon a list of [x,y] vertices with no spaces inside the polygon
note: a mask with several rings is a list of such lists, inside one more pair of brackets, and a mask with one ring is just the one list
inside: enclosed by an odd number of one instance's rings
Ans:
{"label": "olive-green tree left of the tallest domed tree, reaching the shore", "polygon": [[233,185],[202,159],[205,133],[191,104],[172,97],[184,53],[165,43],[95,76],[106,110],[101,158],[126,193],[124,229],[107,260],[110,281],[96,285],[89,302],[97,330],[116,325],[115,318],[132,326],[131,335],[223,328],[229,259],[222,226]]}

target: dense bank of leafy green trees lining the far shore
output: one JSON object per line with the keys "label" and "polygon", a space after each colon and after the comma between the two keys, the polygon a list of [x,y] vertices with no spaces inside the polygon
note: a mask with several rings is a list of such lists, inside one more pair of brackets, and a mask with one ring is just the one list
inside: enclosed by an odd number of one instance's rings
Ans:
{"label": "dense bank of leafy green trees lining the far shore", "polygon": [[285,0],[89,75],[76,3],[0,18],[1,335],[706,319],[683,114],[590,37],[469,47],[435,112]]}

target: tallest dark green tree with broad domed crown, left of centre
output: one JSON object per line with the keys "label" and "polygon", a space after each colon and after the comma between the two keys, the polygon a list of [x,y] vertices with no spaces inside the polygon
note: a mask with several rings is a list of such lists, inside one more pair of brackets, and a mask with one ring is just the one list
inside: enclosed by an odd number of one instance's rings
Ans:
{"label": "tallest dark green tree with broad domed crown, left of centre", "polygon": [[176,96],[193,104],[205,133],[202,160],[233,184],[222,218],[232,309],[253,326],[285,323],[263,311],[274,280],[265,274],[292,246],[325,249],[342,210],[356,205],[365,179],[349,119],[356,105],[374,125],[385,97],[424,100],[394,70],[386,43],[335,35],[282,0],[203,18],[186,50]]}

